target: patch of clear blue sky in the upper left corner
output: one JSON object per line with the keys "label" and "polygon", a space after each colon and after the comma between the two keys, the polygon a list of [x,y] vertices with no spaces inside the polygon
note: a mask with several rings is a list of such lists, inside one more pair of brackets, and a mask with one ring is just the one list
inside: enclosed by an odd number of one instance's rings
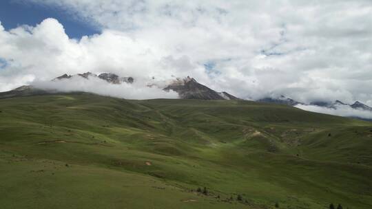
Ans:
{"label": "patch of clear blue sky in the upper left corner", "polygon": [[57,8],[14,0],[0,1],[0,21],[6,30],[17,28],[19,25],[34,26],[48,17],[58,19],[70,38],[79,39],[81,36],[100,32],[92,25],[77,21],[71,18],[67,12]]}

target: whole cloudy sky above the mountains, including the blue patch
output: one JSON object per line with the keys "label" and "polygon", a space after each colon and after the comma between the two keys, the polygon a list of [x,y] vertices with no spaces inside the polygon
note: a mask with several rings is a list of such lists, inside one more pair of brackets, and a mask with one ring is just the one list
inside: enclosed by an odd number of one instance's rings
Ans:
{"label": "whole cloudy sky above the mountains, including the blue patch", "polygon": [[0,21],[0,91],[112,72],[372,106],[370,0],[15,0]]}

